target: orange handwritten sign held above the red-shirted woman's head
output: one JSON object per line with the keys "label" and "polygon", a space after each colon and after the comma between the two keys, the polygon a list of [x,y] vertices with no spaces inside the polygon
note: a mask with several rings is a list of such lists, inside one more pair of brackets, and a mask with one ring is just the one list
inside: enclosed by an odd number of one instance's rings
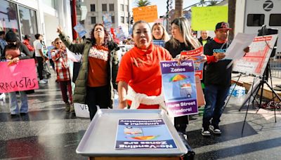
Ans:
{"label": "orange handwritten sign held above the red-shirted woman's head", "polygon": [[157,6],[143,6],[133,8],[133,21],[144,20],[146,22],[155,22],[158,19]]}

